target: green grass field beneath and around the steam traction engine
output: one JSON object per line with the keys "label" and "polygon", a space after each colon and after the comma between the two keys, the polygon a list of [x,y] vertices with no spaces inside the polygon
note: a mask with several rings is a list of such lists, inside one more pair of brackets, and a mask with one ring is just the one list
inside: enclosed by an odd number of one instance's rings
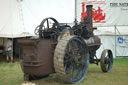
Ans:
{"label": "green grass field beneath and around the steam traction engine", "polygon": [[[41,80],[31,81],[36,85],[65,85],[56,75]],[[0,85],[21,85],[24,83],[23,72],[18,62],[0,62]],[[69,85],[69,84],[68,84]],[[100,65],[89,65],[86,78],[75,85],[128,85],[128,58],[114,59],[112,71],[103,73]]]}

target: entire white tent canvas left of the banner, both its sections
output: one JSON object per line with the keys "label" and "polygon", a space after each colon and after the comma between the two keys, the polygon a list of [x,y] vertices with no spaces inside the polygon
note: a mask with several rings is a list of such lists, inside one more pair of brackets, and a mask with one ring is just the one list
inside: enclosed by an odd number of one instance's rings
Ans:
{"label": "entire white tent canvas left of the banner, both its sections", "polygon": [[0,0],[0,37],[35,36],[34,30],[46,17],[73,23],[74,0]]}

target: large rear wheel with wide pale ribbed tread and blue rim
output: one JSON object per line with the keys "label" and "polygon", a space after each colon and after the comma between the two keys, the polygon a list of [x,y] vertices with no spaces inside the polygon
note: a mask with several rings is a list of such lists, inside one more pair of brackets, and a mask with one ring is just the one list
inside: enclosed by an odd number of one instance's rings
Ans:
{"label": "large rear wheel with wide pale ribbed tread and blue rim", "polygon": [[54,53],[54,68],[59,79],[68,83],[82,81],[88,64],[89,52],[83,39],[67,36],[59,40]]}

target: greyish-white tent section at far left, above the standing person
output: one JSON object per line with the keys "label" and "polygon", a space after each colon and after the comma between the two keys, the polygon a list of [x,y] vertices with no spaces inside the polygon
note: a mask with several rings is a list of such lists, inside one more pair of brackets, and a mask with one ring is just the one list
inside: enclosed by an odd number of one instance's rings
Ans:
{"label": "greyish-white tent section at far left, above the standing person", "polygon": [[0,0],[0,37],[33,36],[24,27],[20,0]]}

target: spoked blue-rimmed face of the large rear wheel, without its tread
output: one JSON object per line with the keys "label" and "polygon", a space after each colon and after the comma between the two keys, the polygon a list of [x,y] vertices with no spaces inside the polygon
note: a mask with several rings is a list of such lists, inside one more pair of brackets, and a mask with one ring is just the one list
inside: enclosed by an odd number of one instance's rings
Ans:
{"label": "spoked blue-rimmed face of the large rear wheel, without its tread", "polygon": [[71,82],[80,82],[85,78],[89,64],[89,54],[85,48],[85,43],[74,37],[68,42],[66,50],[64,56],[65,73]]}

